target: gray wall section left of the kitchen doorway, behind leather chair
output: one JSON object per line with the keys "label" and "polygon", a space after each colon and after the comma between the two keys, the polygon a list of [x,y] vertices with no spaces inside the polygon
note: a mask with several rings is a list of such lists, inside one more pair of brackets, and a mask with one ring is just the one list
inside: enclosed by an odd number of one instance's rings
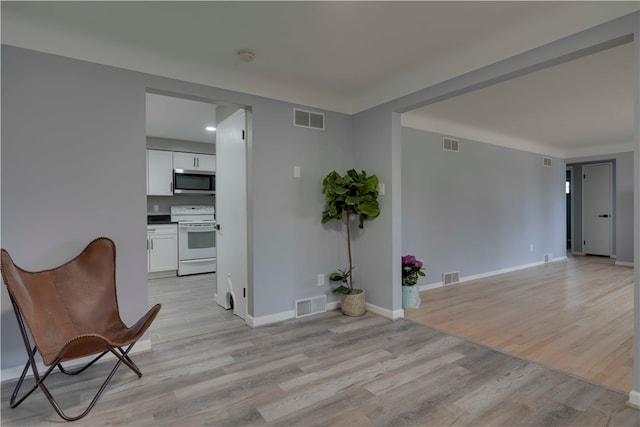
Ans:
{"label": "gray wall section left of the kitchen doorway, behind leather chair", "polygon": [[[41,270],[93,238],[117,245],[125,323],[148,308],[145,98],[128,72],[2,48],[2,246]],[[2,367],[24,363],[2,289]]]}

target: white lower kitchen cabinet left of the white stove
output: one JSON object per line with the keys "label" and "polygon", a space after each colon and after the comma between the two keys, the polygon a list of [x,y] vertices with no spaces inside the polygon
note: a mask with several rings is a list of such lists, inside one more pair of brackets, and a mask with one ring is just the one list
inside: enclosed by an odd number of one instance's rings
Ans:
{"label": "white lower kitchen cabinet left of the white stove", "polygon": [[178,227],[176,224],[147,226],[147,271],[178,269]]}

